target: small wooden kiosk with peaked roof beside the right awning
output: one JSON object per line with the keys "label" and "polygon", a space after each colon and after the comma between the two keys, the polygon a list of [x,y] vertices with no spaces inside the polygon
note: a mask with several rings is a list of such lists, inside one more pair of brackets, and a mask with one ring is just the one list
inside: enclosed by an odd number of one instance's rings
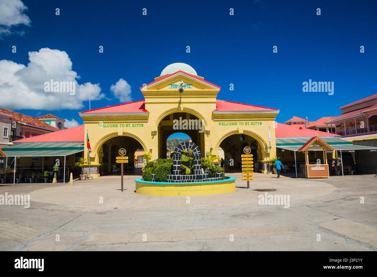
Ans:
{"label": "small wooden kiosk with peaked roof beside the right awning", "polygon": [[[310,149],[322,149],[323,164],[309,164],[308,150]],[[309,139],[307,143],[297,150],[299,152],[305,151],[305,177],[306,178],[319,178],[329,177],[329,165],[327,164],[327,151],[334,151],[334,148],[320,139],[318,136],[314,136]]]}

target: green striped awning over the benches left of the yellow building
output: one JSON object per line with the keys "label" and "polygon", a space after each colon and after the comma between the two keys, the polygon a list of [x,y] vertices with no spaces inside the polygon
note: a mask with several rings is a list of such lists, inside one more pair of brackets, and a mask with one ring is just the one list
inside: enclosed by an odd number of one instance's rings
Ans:
{"label": "green striped awning over the benches left of the yellow building", "polygon": [[67,156],[83,150],[83,142],[20,142],[2,148],[10,157]]}

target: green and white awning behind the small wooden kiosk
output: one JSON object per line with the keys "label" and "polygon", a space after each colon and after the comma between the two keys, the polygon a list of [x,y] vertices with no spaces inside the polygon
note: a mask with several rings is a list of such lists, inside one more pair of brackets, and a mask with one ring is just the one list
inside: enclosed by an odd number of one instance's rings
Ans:
{"label": "green and white awning behind the small wooden kiosk", "polygon": [[[354,145],[351,141],[345,141],[340,138],[333,138],[333,137],[321,137],[323,141],[329,144],[334,150],[370,150],[370,149],[377,149],[377,147],[371,146],[363,146],[363,145]],[[304,145],[309,138],[276,138],[276,147],[297,151]],[[310,149],[308,151],[322,151],[322,149]]]}

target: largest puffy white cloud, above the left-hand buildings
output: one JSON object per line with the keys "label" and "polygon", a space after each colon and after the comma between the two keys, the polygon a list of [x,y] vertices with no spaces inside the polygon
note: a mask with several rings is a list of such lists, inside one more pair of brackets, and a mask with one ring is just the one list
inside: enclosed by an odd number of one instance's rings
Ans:
{"label": "largest puffy white cloud, above the left-hand buildings", "polygon": [[[65,51],[42,48],[29,52],[27,66],[13,61],[0,61],[0,98],[5,109],[60,110],[81,109],[83,101],[104,98],[100,84],[78,84],[80,76],[72,70]],[[44,83],[76,82],[75,95],[69,92],[45,92]]]}

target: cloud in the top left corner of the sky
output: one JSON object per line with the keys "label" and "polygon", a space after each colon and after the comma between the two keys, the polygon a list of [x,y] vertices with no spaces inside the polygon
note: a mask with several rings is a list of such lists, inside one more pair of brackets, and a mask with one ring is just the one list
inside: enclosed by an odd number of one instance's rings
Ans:
{"label": "cloud in the top left corner of the sky", "polygon": [[30,26],[30,18],[23,13],[27,9],[21,0],[0,0],[0,37],[10,35],[12,26]]}

